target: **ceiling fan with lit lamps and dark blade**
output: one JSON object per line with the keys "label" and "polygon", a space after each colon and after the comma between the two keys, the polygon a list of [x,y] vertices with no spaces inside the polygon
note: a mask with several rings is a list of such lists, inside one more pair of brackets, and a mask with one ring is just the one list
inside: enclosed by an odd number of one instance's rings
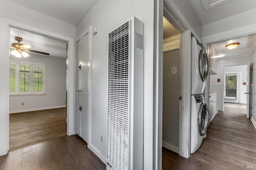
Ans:
{"label": "ceiling fan with lit lamps and dark blade", "polygon": [[50,55],[49,53],[30,50],[29,48],[31,48],[32,45],[21,44],[20,43],[22,41],[21,37],[15,37],[15,40],[18,41],[18,43],[12,43],[12,46],[10,46],[10,49],[12,50],[11,54],[14,55],[15,57],[18,57],[18,58],[29,57],[30,55],[27,52],[38,53],[38,54],[43,54],[43,55]]}

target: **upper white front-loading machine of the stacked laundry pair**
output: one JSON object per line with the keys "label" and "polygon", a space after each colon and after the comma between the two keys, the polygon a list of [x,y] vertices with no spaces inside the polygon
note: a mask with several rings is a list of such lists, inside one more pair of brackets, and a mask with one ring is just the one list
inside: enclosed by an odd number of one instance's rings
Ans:
{"label": "upper white front-loading machine of the stacked laundry pair", "polygon": [[191,94],[202,94],[209,71],[208,58],[195,37],[191,38],[191,46]]}

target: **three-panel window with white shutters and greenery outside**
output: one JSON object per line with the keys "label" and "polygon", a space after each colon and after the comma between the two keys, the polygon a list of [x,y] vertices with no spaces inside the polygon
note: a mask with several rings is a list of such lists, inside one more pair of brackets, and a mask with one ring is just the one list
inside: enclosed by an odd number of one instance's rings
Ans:
{"label": "three-panel window with white shutters and greenery outside", "polygon": [[10,61],[10,95],[45,94],[45,64]]}

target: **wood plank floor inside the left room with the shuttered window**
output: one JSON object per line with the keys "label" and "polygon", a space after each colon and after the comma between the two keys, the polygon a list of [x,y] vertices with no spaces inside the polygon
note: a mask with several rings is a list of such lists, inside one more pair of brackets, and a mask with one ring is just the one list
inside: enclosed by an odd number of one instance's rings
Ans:
{"label": "wood plank floor inside the left room with the shuttered window", "polygon": [[9,150],[66,135],[66,107],[9,115]]}

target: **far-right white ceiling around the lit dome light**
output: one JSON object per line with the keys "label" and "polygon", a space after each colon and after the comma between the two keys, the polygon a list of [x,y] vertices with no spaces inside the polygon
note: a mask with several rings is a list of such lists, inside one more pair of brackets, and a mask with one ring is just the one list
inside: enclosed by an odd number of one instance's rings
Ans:
{"label": "far-right white ceiling around the lit dome light", "polygon": [[[230,50],[226,45],[230,43],[240,43],[238,47]],[[256,45],[256,35],[250,35],[246,37],[236,38],[228,41],[222,41],[220,43],[212,44],[216,53],[224,54],[224,57],[237,57],[243,55],[251,55],[254,46]],[[220,58],[223,59],[224,57]]]}

